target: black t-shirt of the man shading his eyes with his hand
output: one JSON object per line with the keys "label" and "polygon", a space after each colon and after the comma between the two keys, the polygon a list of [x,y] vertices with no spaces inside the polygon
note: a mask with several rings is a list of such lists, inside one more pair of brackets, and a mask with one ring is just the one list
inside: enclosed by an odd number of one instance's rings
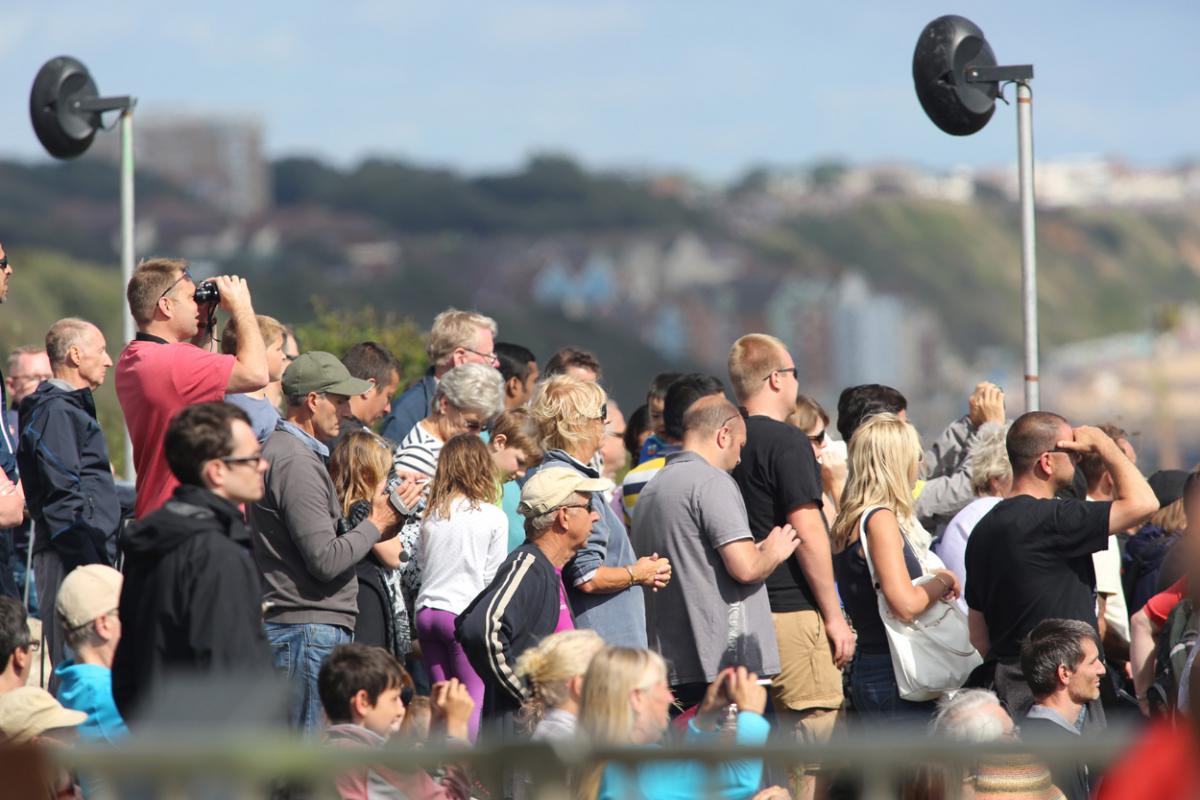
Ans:
{"label": "black t-shirt of the man shading his eyes with his hand", "polygon": [[1045,619],[1096,627],[1092,553],[1109,546],[1111,503],[1001,500],[967,540],[967,606],[983,613],[990,656],[1020,657],[1021,642]]}

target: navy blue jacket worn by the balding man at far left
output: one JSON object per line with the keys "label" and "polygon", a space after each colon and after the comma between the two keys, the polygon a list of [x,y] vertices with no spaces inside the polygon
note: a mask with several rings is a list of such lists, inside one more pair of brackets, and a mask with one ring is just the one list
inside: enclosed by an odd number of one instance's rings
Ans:
{"label": "navy blue jacket worn by the balding man at far left", "polygon": [[108,564],[104,542],[116,534],[116,499],[104,432],[88,389],[47,380],[20,404],[17,462],[34,518],[34,552],[54,548],[64,572]]}

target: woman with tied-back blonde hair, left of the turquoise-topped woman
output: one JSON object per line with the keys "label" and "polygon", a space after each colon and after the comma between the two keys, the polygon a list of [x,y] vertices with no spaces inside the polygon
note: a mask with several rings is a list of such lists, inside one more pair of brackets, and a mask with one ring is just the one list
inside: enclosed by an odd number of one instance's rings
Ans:
{"label": "woman with tied-back blonde hair, left of the turquoise-topped woman", "polygon": [[534,724],[534,741],[575,735],[583,675],[604,646],[595,631],[580,628],[547,636],[517,658],[517,676],[529,685],[524,714]]}

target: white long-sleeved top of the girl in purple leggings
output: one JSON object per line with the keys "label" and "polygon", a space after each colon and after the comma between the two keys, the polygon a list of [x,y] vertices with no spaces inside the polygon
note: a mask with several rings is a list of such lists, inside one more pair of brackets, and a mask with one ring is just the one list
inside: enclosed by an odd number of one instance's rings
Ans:
{"label": "white long-sleeved top of the girl in purple leggings", "polygon": [[470,507],[455,498],[449,519],[428,516],[421,523],[421,591],[416,608],[461,614],[496,576],[509,554],[509,518],[499,506]]}

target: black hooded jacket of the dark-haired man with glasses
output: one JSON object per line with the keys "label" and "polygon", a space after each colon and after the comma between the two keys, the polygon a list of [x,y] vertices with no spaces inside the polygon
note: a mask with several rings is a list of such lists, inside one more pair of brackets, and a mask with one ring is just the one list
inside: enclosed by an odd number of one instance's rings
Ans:
{"label": "black hooded jacket of the dark-haired man with glasses", "polygon": [[263,591],[236,506],[184,485],[120,541],[124,631],[113,699],[127,722],[137,721],[139,703],[170,674],[270,668]]}

